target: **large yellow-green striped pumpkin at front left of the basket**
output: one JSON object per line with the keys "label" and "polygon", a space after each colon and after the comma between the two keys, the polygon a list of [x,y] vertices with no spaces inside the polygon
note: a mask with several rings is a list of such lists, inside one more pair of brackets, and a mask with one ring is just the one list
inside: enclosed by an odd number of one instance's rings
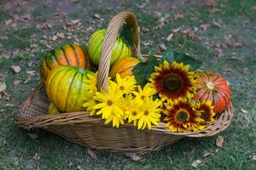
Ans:
{"label": "large yellow-green striped pumpkin at front left of the basket", "polygon": [[50,72],[45,83],[49,101],[61,112],[84,111],[84,96],[88,93],[85,81],[95,74],[74,66],[58,66]]}

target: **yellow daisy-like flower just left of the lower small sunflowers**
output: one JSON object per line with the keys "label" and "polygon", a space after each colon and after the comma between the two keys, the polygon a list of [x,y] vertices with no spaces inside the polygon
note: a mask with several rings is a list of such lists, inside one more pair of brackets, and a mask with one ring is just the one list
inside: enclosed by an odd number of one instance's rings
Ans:
{"label": "yellow daisy-like flower just left of the lower small sunflowers", "polygon": [[148,127],[151,129],[151,124],[158,125],[160,122],[160,112],[159,109],[160,102],[158,99],[153,100],[152,97],[143,99],[142,110],[137,114],[135,119],[138,120],[137,128],[144,129]]}

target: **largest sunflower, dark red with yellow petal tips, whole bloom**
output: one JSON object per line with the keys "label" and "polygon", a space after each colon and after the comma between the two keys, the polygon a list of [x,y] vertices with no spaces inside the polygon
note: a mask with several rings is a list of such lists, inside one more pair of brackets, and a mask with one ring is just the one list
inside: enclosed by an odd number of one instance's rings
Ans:
{"label": "largest sunflower, dark red with yellow petal tips, whole bloom", "polygon": [[189,65],[178,64],[176,61],[170,65],[166,60],[164,65],[154,67],[149,81],[163,101],[166,99],[192,98],[195,94],[196,81],[194,72],[189,71]]}

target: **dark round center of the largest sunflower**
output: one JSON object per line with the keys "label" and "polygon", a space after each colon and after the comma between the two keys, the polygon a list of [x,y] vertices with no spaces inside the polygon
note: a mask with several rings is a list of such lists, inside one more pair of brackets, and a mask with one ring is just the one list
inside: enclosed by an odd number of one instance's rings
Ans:
{"label": "dark round center of the largest sunflower", "polygon": [[168,75],[164,78],[164,87],[168,90],[175,91],[182,85],[182,80],[176,75]]}

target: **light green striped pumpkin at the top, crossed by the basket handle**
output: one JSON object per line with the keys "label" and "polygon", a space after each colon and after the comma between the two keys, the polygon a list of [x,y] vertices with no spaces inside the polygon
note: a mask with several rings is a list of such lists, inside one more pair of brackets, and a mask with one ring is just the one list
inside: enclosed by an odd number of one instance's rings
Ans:
{"label": "light green striped pumpkin at the top, crossed by the basket handle", "polygon": [[[90,39],[88,42],[88,54],[90,56],[91,61],[96,66],[98,66],[100,63],[101,54],[102,54],[102,45],[103,45],[103,40],[105,35],[106,35],[106,30],[98,30],[90,36]],[[114,43],[110,65],[113,65],[113,63],[117,59],[121,59],[125,56],[131,56],[131,48],[126,46],[120,37],[117,37]]]}

